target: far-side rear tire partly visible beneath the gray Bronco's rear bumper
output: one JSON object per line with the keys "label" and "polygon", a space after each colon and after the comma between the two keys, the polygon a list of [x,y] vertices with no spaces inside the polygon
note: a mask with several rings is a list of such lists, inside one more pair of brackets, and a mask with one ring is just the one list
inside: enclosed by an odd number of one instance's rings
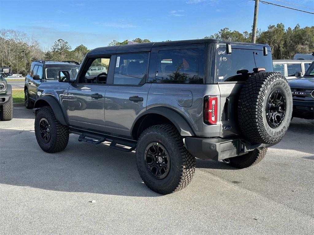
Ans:
{"label": "far-side rear tire partly visible beneath the gray Bronco's rear bumper", "polygon": [[253,151],[248,152],[247,154],[236,156],[234,158],[229,158],[230,163],[228,163],[228,165],[236,168],[246,168],[249,166],[256,165],[264,158],[266,152],[267,148],[263,148],[261,150],[254,149]]}

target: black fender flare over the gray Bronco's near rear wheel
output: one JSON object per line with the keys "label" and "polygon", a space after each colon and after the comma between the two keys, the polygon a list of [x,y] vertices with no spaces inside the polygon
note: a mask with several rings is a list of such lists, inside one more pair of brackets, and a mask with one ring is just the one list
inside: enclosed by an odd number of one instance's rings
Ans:
{"label": "black fender flare over the gray Bronco's near rear wheel", "polygon": [[195,136],[194,131],[192,130],[191,126],[186,121],[186,119],[183,118],[181,114],[179,114],[175,110],[171,108],[166,108],[166,107],[154,107],[143,112],[140,116],[138,116],[135,119],[131,128],[131,133],[133,133],[133,128],[140,118],[142,118],[143,116],[147,114],[154,114],[154,113],[162,115],[165,118],[169,119],[176,126],[181,136]]}

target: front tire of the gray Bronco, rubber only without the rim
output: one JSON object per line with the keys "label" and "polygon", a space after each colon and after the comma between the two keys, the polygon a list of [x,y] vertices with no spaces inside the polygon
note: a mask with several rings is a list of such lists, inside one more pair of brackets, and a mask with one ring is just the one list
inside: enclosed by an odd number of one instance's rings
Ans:
{"label": "front tire of the gray Bronco, rubber only without the rim", "polygon": [[[51,138],[45,143],[39,132],[39,123],[41,118],[46,118],[50,124]],[[37,143],[47,153],[56,153],[65,149],[69,141],[69,128],[62,125],[56,119],[56,116],[50,106],[41,107],[35,117],[35,136]]]}

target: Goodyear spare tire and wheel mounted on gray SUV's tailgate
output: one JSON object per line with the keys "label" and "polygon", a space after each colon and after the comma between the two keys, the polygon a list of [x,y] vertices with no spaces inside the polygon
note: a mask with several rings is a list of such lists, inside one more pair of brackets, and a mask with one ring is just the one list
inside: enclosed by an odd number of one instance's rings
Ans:
{"label": "Goodyear spare tire and wheel mounted on gray SUV's tailgate", "polygon": [[259,72],[243,85],[238,120],[251,143],[276,144],[292,117],[292,95],[287,79],[278,72]]}

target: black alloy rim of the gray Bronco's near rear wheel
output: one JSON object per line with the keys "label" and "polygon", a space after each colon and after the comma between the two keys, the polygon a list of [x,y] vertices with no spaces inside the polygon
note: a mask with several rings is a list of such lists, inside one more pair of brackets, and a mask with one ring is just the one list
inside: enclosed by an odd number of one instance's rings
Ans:
{"label": "black alloy rim of the gray Bronco's near rear wheel", "polygon": [[162,144],[157,142],[150,143],[145,149],[144,158],[149,173],[155,179],[163,179],[168,175],[170,157]]}

